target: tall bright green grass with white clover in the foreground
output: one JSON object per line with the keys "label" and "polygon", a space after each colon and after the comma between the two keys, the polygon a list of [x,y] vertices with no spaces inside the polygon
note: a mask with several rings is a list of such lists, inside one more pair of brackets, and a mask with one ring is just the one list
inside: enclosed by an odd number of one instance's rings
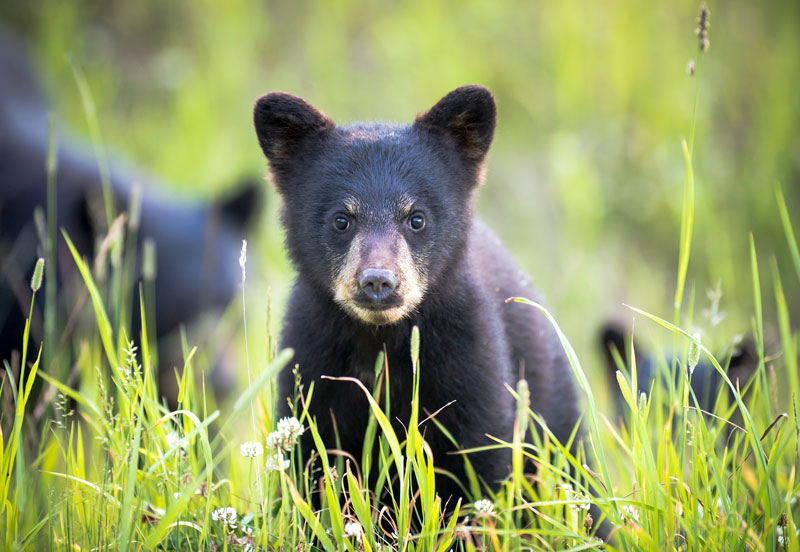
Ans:
{"label": "tall bright green grass with white clover in the foreground", "polygon": [[[776,197],[791,249],[792,220],[780,191]],[[612,528],[608,547],[613,549],[798,550],[798,383],[796,374],[780,376],[797,369],[798,333],[791,329],[783,284],[773,272],[784,354],[765,358],[764,290],[752,240],[759,364],[749,389],[740,390],[727,378],[725,361],[715,358],[698,337],[631,307],[640,324],[650,321],[671,332],[678,350],[688,345],[691,356],[696,348],[723,376],[727,388],[720,390],[713,414],[699,410],[683,358],[678,363],[685,376],[677,387],[654,386],[651,394],[637,397],[632,391],[637,388],[634,354],[630,366],[621,366],[629,376],[619,372],[617,378],[628,409],[625,422],[609,421],[555,319],[538,304],[518,299],[541,309],[555,325],[588,406],[587,431],[573,456],[569,443],[559,443],[531,410],[535,405],[528,404],[526,385],[509,389],[519,404],[514,438],[492,446],[512,448],[512,473],[496,494],[481,488],[474,477],[462,482],[465,502],[448,516],[436,494],[433,459],[418,430],[416,400],[408,433],[392,429],[385,402],[389,367],[382,358],[376,362],[373,390],[356,379],[338,378],[342,385],[360,386],[374,414],[361,459],[324,450],[314,420],[302,407],[318,400],[311,386],[296,402],[296,417],[314,437],[317,468],[300,465],[297,447],[290,446],[285,452],[288,468],[267,470],[264,455],[243,458],[239,447],[253,439],[268,442],[275,430],[273,379],[277,371],[290,369],[291,351],[253,359],[260,368],[251,374],[246,391],[220,409],[210,407],[214,399],[205,388],[204,373],[194,367],[197,349],[187,348],[179,405],[170,411],[159,400],[152,355],[147,348],[136,351],[128,330],[107,314],[108,301],[123,297],[110,293],[114,271],[133,265],[112,264],[111,277],[98,284],[69,237],[64,234],[63,239],[89,292],[94,330],[81,336],[74,387],[42,371],[38,354],[18,382],[7,368],[3,392],[13,397],[15,410],[3,417],[11,430],[2,435],[0,458],[5,474],[0,479],[0,527],[6,550],[584,550],[599,545],[593,529],[603,520]],[[791,285],[800,285],[800,279]],[[119,307],[113,305],[113,310],[119,312]],[[143,300],[138,307],[144,310]],[[148,319],[146,313],[141,319]],[[142,343],[149,343],[146,323],[136,330]],[[271,336],[262,334],[260,339]],[[23,364],[28,342],[26,326]],[[415,397],[420,371],[426,369],[418,361],[425,346],[414,332]],[[36,379],[58,392],[53,419],[42,427],[28,422],[26,415]],[[67,399],[74,411],[64,410]],[[727,421],[734,412],[741,423]],[[248,430],[237,429],[248,417]],[[525,443],[521,436],[531,424],[540,427],[542,438]],[[376,440],[379,447],[373,449]],[[372,457],[373,450],[379,456]],[[524,474],[523,461],[538,466],[535,480]],[[370,470],[379,477],[367,478]],[[387,482],[395,477],[401,483],[393,487]],[[378,502],[387,489],[389,498]],[[310,497],[316,492],[321,498],[315,510]],[[475,504],[484,498],[491,501],[490,512]],[[591,502],[602,519],[587,522]],[[214,519],[226,507],[236,510],[235,523]]]}

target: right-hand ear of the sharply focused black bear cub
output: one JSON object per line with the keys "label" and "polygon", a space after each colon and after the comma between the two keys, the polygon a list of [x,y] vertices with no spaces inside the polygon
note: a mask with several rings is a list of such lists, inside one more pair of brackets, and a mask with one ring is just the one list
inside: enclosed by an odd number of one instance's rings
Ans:
{"label": "right-hand ear of the sharply focused black bear cub", "polygon": [[456,88],[417,115],[414,126],[450,136],[464,160],[477,165],[489,151],[496,120],[494,96],[472,84]]}

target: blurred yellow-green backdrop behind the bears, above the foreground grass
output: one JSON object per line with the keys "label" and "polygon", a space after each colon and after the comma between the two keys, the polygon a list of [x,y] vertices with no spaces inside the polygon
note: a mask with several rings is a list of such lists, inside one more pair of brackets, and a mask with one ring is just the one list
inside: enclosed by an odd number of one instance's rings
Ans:
{"label": "blurred yellow-green backdrop behind the bears, above the foreground grass", "polygon": [[[690,139],[695,98],[695,305],[684,324],[717,347],[749,330],[751,231],[765,309],[774,310],[773,256],[784,282],[796,282],[775,186],[797,227],[800,3],[708,7],[704,54],[695,0],[15,0],[0,5],[0,19],[29,39],[64,127],[87,135],[71,56],[108,150],[191,196],[264,174],[251,109],[267,91],[300,95],[340,122],[410,122],[452,88],[486,85],[499,125],[480,211],[596,374],[599,326],[633,318],[623,302],[672,318],[681,139]],[[263,220],[249,236],[259,266],[248,278],[255,355],[267,290],[280,313],[291,283],[278,198],[264,187]],[[727,316],[714,326],[703,309],[718,282]],[[800,290],[786,287],[797,319]],[[769,353],[775,318],[765,320]],[[637,332],[671,342],[644,320]]]}

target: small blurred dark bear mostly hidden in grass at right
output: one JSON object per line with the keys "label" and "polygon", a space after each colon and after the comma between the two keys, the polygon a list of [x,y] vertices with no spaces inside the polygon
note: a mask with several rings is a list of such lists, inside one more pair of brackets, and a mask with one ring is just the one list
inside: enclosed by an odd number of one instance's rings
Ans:
{"label": "small blurred dark bear mostly hidden in grass at right", "polygon": [[[628,405],[625,403],[625,399],[622,397],[619,382],[617,382],[617,370],[619,369],[619,365],[617,364],[616,355],[618,355],[623,366],[630,370],[630,340],[630,334],[617,324],[608,323],[603,326],[600,332],[599,341],[606,365],[606,379],[616,415],[619,419],[625,419],[626,412],[628,412],[629,409]],[[653,384],[668,384],[667,382],[663,382],[663,380],[660,381],[659,372],[663,366],[666,366],[667,370],[671,369],[673,364],[672,359],[659,359],[643,351],[639,345],[635,343],[633,347],[636,353],[637,397],[641,393],[650,394],[651,385]],[[738,384],[739,388],[744,393],[745,387],[758,368],[758,356],[753,339],[751,337],[743,338],[740,342],[732,346],[726,354],[718,356],[717,359],[719,360],[720,366],[726,370],[731,382],[734,385]],[[676,372],[671,375],[672,381],[676,385],[683,377],[683,369],[683,364],[681,363],[677,365]],[[706,359],[701,359],[692,371],[691,387],[694,396],[697,397],[697,405],[706,412],[714,412],[717,397],[723,389],[726,390],[729,400],[733,401],[730,388],[728,388],[728,385],[722,379],[722,376],[720,376],[714,365]],[[690,404],[694,406],[694,400],[691,398]],[[734,415],[734,423],[736,423],[736,420],[737,417]]]}

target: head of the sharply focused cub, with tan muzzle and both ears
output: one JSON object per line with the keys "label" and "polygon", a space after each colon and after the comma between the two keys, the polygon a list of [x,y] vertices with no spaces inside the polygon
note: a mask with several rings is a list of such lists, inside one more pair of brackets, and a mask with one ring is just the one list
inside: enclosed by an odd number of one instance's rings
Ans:
{"label": "head of the sharply focused cub, with tan muzzle and both ears", "polygon": [[495,119],[480,86],[454,90],[406,126],[336,126],[296,96],[259,98],[256,134],[300,277],[370,325],[394,324],[447,286]]}

